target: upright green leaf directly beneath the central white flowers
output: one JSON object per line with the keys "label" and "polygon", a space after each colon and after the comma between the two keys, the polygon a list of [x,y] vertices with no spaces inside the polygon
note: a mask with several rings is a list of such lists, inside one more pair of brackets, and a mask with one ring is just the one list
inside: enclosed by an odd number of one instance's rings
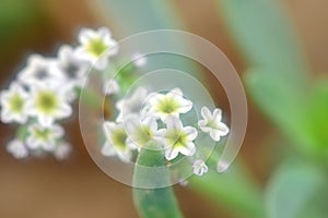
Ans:
{"label": "upright green leaf directly beneath the central white flowers", "polygon": [[[147,183],[163,183],[169,181],[168,170],[160,170],[154,177],[143,167],[165,166],[165,158],[160,150],[141,149],[134,167],[133,185],[141,186]],[[166,173],[165,173],[166,172]],[[133,189],[133,201],[138,213],[143,218],[181,218],[172,187]]]}

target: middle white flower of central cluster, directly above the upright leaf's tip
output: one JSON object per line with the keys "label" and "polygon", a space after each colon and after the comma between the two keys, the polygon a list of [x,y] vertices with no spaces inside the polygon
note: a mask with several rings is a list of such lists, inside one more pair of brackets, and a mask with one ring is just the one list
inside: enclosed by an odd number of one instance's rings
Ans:
{"label": "middle white flower of central cluster, directly above the upright leaf's tip", "polygon": [[125,122],[126,132],[129,136],[130,147],[142,148],[148,142],[154,140],[157,131],[157,122],[154,117],[130,117]]}

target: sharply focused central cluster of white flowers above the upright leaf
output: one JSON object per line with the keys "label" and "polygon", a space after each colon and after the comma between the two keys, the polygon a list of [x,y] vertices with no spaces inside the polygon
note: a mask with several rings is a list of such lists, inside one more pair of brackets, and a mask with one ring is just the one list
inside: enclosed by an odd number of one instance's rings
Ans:
{"label": "sharply focused central cluster of white flowers above the upright leaf", "polygon": [[195,141],[199,131],[207,133],[214,142],[229,133],[229,128],[221,121],[220,109],[211,112],[202,107],[202,118],[196,123],[197,126],[185,125],[183,116],[190,112],[194,106],[179,88],[149,93],[145,87],[138,87],[132,95],[118,100],[116,108],[118,116],[115,122],[104,122],[106,142],[102,154],[117,156],[122,161],[131,161],[133,154],[138,154],[149,142],[155,142],[161,145],[167,161],[186,156],[194,173],[202,175],[208,167],[196,155],[198,147]]}

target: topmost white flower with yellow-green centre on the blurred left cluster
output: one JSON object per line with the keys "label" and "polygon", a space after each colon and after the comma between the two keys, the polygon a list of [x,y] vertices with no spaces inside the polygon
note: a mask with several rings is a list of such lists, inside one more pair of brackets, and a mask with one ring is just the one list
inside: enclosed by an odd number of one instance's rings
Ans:
{"label": "topmost white flower with yellow-green centre on the blurred left cluster", "polygon": [[84,61],[95,64],[97,70],[104,70],[108,64],[108,57],[118,51],[117,43],[112,38],[108,28],[97,31],[83,28],[79,34],[80,46],[77,56]]}

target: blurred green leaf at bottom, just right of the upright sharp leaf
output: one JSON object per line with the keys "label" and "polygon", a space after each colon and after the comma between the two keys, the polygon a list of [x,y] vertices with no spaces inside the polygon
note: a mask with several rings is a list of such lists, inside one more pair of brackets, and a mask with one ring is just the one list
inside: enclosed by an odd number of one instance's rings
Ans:
{"label": "blurred green leaf at bottom, just right of the upright sharp leaf", "polygon": [[189,185],[200,194],[210,197],[230,213],[238,217],[262,218],[263,199],[261,190],[250,178],[241,162],[235,162],[224,173],[218,173],[213,159],[210,160],[209,172],[202,177],[194,175]]}

